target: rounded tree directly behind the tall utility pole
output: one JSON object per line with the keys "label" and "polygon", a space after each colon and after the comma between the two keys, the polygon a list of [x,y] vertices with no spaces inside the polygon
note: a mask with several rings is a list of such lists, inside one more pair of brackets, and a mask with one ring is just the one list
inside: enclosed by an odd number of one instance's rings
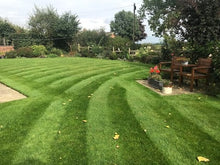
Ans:
{"label": "rounded tree directly behind the tall utility pole", "polygon": [[120,11],[115,14],[114,21],[110,23],[111,31],[121,37],[133,39],[133,28],[135,28],[135,41],[146,38],[145,28],[137,15],[135,15],[135,26],[134,26],[134,14],[130,11]]}

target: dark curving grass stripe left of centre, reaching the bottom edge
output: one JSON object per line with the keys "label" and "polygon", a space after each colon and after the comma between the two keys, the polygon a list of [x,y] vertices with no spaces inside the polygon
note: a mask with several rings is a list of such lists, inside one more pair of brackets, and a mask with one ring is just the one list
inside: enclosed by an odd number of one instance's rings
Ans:
{"label": "dark curving grass stripe left of centre, reaching the bottom edge", "polygon": [[[62,158],[59,160],[62,164],[68,164],[70,162],[87,164],[87,123],[84,123],[83,120],[88,120],[86,113],[90,97],[92,97],[91,94],[108,79],[108,76],[102,76],[88,84],[82,83],[80,88],[73,86],[72,89],[75,88],[75,90],[72,90],[65,96],[72,101],[67,107],[68,110],[65,114],[65,119],[62,121],[62,127],[60,128],[63,132],[63,136],[57,137],[56,144],[53,145],[53,150],[57,152],[56,154],[51,153],[52,160],[57,161],[59,158]],[[79,159],[82,155],[83,157]]]}

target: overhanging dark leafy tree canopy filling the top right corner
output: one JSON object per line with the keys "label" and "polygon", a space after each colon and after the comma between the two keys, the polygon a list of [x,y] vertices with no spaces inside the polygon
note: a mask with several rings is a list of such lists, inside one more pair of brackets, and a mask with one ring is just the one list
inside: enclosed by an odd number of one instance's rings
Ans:
{"label": "overhanging dark leafy tree canopy filling the top right corner", "polygon": [[220,40],[219,0],[144,0],[140,15],[146,14],[156,36],[175,35],[198,44]]}

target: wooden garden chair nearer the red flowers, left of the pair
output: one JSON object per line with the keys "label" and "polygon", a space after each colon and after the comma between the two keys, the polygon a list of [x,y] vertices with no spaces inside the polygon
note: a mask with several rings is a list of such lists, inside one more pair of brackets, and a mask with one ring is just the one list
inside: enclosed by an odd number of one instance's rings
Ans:
{"label": "wooden garden chair nearer the red flowers, left of the pair", "polygon": [[[170,62],[160,62],[159,63],[159,69],[161,72],[166,72],[170,74],[170,81],[173,82],[173,76],[174,74],[179,74],[180,72],[180,65],[182,64],[182,61],[187,59],[186,57],[177,57],[173,56],[172,61]],[[169,67],[164,67],[164,65],[170,65]]]}

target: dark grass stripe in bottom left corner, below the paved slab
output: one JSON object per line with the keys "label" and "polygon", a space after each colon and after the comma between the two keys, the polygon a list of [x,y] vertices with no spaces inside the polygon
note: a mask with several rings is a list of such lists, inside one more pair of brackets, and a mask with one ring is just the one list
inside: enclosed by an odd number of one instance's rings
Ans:
{"label": "dark grass stripe in bottom left corner, below the paved slab", "polygon": [[0,125],[3,125],[3,129],[0,130],[1,164],[11,164],[14,154],[22,146],[26,135],[43,115],[49,103],[47,99],[29,99],[18,102],[17,106],[0,110]]}

